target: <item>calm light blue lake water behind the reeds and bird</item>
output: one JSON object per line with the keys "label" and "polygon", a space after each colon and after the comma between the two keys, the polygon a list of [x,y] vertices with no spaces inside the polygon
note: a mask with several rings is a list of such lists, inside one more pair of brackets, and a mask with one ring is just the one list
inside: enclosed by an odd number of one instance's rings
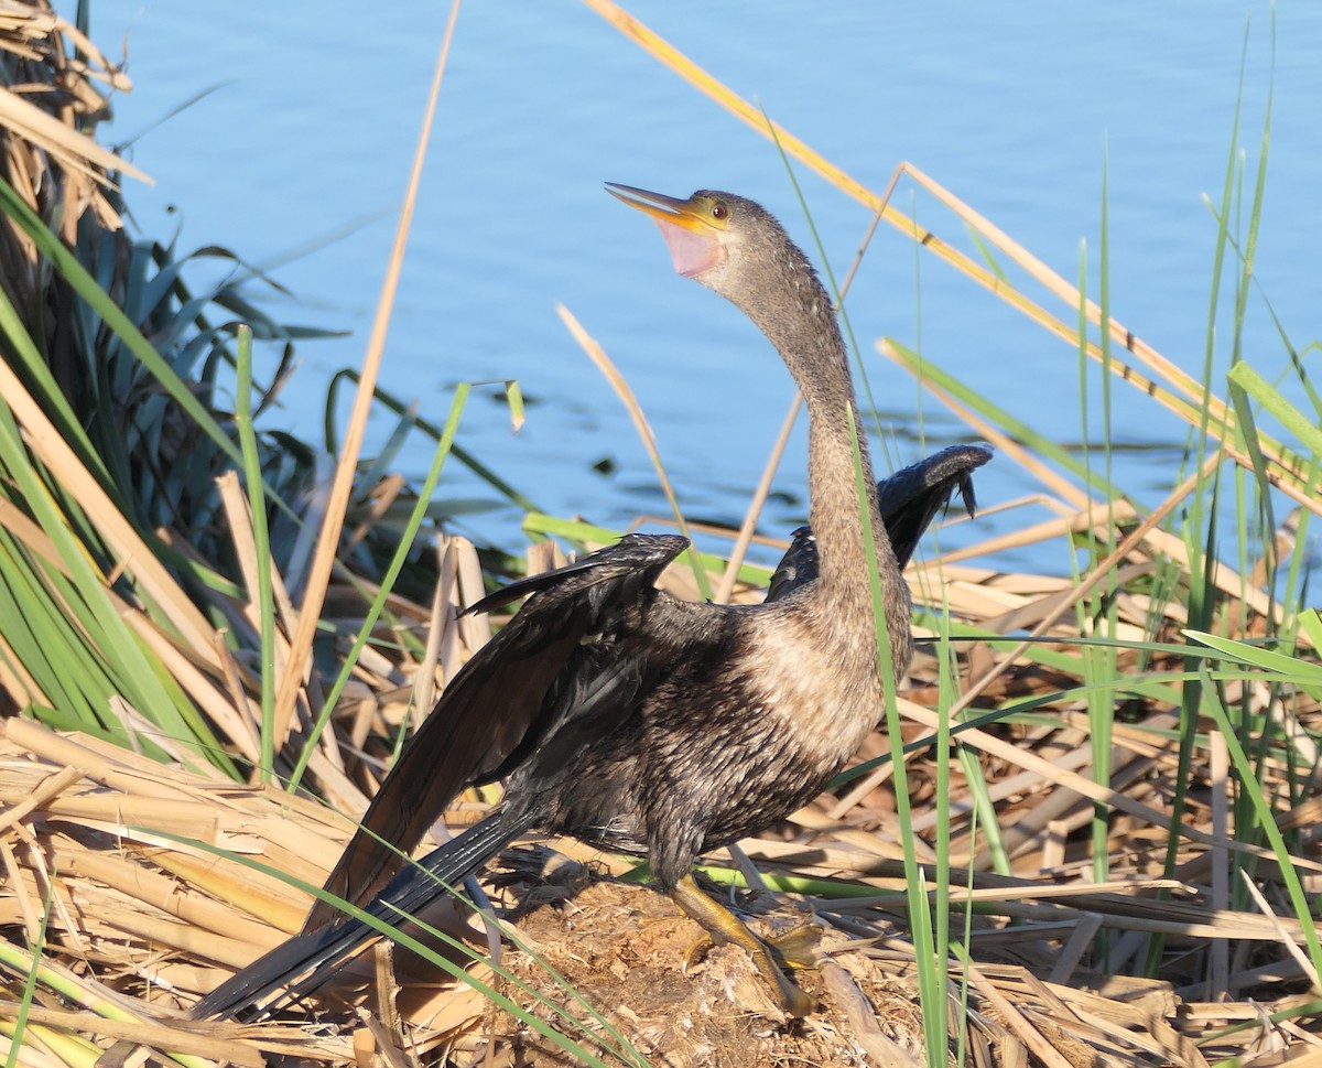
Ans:
{"label": "calm light blue lake water behind the reeds and bird", "polygon": [[[1285,366],[1265,300],[1297,349],[1319,334],[1322,5],[1277,5],[1274,62],[1265,0],[640,0],[629,9],[870,188],[882,190],[911,160],[1066,278],[1079,276],[1085,250],[1095,293],[1105,174],[1112,313],[1195,374],[1216,239],[1204,194],[1220,200],[1240,94],[1252,176],[1274,78],[1261,289],[1244,353],[1273,379]],[[112,53],[127,42],[136,83],[115,102],[106,136],[132,139],[134,161],[157,182],[128,190],[140,230],[177,231],[181,248],[225,245],[268,266],[291,296],[254,295],[276,317],[349,332],[301,346],[296,385],[270,427],[317,438],[329,375],[361,361],[446,15],[446,5],[420,1],[93,5],[94,37]],[[869,215],[814,176],[800,178],[842,276]],[[557,514],[619,525],[664,513],[627,415],[557,319],[562,301],[633,385],[689,514],[738,519],[792,386],[738,311],[672,274],[654,229],[611,200],[603,180],[676,194],[731,189],[764,202],[812,247],[775,148],[588,8],[465,5],[382,385],[440,419],[456,382],[517,378],[534,402],[527,424],[513,434],[486,390],[464,420],[469,449]],[[911,185],[898,198],[947,237],[962,237]],[[1224,307],[1218,378],[1228,357]],[[1084,427],[1071,346],[890,229],[873,243],[849,308],[890,439],[879,468],[962,434],[875,353],[882,336],[920,346],[1048,438],[1099,436],[1100,406]],[[1089,395],[1100,398],[1091,374]],[[1224,383],[1216,390],[1224,394]],[[389,420],[377,423],[378,444],[389,430]],[[1141,447],[1117,456],[1116,481],[1144,502],[1159,500],[1183,424],[1117,383],[1112,432]],[[800,434],[769,533],[804,514],[802,456]],[[420,473],[428,460],[419,443],[402,463]],[[1006,460],[980,477],[985,504],[1036,489]],[[457,467],[444,492],[492,497]],[[516,547],[518,518],[501,509],[465,529]],[[1040,518],[1029,509],[980,523],[977,534]],[[1067,571],[1066,549],[1056,549],[1059,559],[1039,554],[1032,564]]]}

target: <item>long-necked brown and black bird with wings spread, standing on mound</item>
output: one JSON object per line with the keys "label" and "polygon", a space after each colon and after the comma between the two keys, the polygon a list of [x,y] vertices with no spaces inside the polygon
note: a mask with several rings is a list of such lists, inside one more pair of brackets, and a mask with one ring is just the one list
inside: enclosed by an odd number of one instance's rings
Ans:
{"label": "long-necked brown and black bird with wings spread, standing on mound", "polygon": [[[676,271],[732,301],[784,360],[808,411],[812,533],[796,539],[763,604],[694,603],[658,590],[687,541],[631,534],[468,609],[527,597],[405,747],[304,929],[202,998],[197,1018],[264,1016],[270,994],[283,990],[283,1005],[320,987],[375,933],[336,899],[378,924],[397,921],[531,829],[646,857],[654,884],[681,911],[748,952],[785,1014],[814,1009],[691,868],[699,854],[758,834],[817,796],[874,728],[882,671],[898,681],[912,656],[908,588],[880,518],[845,344],[809,259],[744,197],[607,189],[657,222]],[[917,534],[954,488],[972,505],[968,472],[990,452],[964,448],[972,452],[948,456],[944,475],[915,477],[898,494],[899,514],[924,515]],[[914,521],[906,559],[912,529]],[[496,780],[505,794],[492,814],[408,864],[460,790]]]}

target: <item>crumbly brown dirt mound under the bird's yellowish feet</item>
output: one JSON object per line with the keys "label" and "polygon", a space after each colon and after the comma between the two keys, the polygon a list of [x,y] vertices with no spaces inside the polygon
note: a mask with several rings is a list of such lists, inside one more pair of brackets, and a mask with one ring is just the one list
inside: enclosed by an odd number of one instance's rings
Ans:
{"label": "crumbly brown dirt mound under the bird's yellowish feet", "polygon": [[[792,908],[758,916],[751,925],[759,936],[776,936],[805,924],[820,933],[820,949],[834,962],[828,968],[837,977],[828,982],[818,969],[796,970],[798,985],[820,1005],[818,1012],[796,1020],[779,1011],[747,953],[703,946],[702,928],[668,897],[645,887],[591,882],[570,900],[543,904],[520,919],[525,948],[509,964],[535,995],[517,991],[514,999],[561,1028],[566,1023],[553,1006],[571,1012],[584,1022],[583,1030],[571,1031],[582,1042],[600,1039],[608,1035],[607,1024],[613,1026],[648,1060],[670,1068],[874,1064],[853,1034],[850,998],[866,1001],[880,1034],[891,1031],[886,1038],[921,1049],[916,990],[874,974],[866,958],[847,952],[847,938]],[[564,983],[605,1023],[594,1020]],[[842,998],[841,986],[853,990]],[[571,1063],[531,1027],[520,1026],[506,1040],[514,1053],[510,1064]],[[604,1047],[598,1043],[603,1053]]]}

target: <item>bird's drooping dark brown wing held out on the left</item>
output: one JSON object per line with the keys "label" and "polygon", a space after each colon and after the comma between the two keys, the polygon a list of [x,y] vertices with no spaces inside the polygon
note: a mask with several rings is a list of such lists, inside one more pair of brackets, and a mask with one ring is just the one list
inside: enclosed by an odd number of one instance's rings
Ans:
{"label": "bird's drooping dark brown wing held out on the left", "polygon": [[[687,547],[674,535],[631,534],[576,563],[512,583],[475,609],[531,592],[520,612],[455,675],[371,800],[325,888],[366,904],[401,867],[455,796],[517,767],[564,706],[563,690],[583,686],[584,641],[627,615],[665,566]],[[598,701],[615,691],[609,673],[595,681]],[[316,901],[304,931],[338,921]]]}

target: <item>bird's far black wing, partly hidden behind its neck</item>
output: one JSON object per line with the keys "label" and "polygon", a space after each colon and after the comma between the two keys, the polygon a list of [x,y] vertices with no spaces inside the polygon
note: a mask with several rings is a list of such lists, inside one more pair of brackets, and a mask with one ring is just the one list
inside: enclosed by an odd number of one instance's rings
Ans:
{"label": "bird's far black wing, partly hidden behind its neck", "polygon": [[[932,517],[945,508],[954,490],[964,498],[969,515],[973,514],[977,508],[973,472],[990,459],[988,445],[949,445],[876,484],[878,509],[902,570]],[[789,535],[789,549],[771,576],[767,600],[780,600],[816,579],[817,568],[817,539],[810,526],[801,526]]]}

